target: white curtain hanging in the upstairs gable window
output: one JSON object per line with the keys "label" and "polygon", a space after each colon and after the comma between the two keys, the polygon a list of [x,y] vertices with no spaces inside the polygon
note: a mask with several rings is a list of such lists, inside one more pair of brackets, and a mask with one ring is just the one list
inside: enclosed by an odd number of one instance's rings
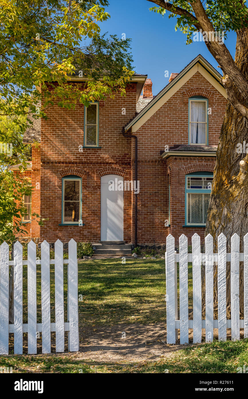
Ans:
{"label": "white curtain hanging in the upstairs gable window", "polygon": [[205,144],[206,143],[206,102],[205,101],[191,101],[191,143]]}

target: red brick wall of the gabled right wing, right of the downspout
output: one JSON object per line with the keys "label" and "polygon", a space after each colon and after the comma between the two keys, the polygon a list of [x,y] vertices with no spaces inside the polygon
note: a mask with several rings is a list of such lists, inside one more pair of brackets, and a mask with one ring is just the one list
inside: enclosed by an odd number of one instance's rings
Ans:
{"label": "red brick wall of the gabled right wing, right of the downspout", "polygon": [[[138,242],[166,243],[168,233],[176,243],[182,233],[191,237],[195,232],[204,237],[205,229],[183,228],[185,218],[185,167],[192,171],[211,170],[215,158],[171,157],[162,160],[164,146],[188,144],[188,99],[201,95],[209,99],[209,145],[217,145],[227,101],[199,72],[195,73],[150,119],[135,133],[138,137],[138,178],[141,180],[138,212]],[[170,204],[171,227],[168,219],[168,166],[172,170]],[[202,166],[203,165],[203,166]],[[207,169],[204,169],[204,168]],[[203,169],[202,169],[203,168]]]}

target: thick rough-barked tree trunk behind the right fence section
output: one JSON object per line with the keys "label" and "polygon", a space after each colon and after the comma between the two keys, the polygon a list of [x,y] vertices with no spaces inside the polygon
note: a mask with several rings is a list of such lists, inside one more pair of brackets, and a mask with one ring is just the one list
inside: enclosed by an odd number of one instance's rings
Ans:
{"label": "thick rough-barked tree trunk behind the right fence section", "polygon": [[[237,32],[235,62],[248,81],[248,29]],[[236,91],[238,99],[240,94]],[[248,99],[242,99],[248,105]],[[218,110],[218,105],[217,108]],[[215,111],[216,112],[216,111]],[[218,112],[218,111],[217,111]],[[212,115],[214,118],[214,115]],[[248,144],[248,120],[227,104],[225,119],[221,128],[217,160],[214,169],[205,235],[211,234],[214,252],[217,252],[217,238],[220,233],[227,237],[227,251],[234,233],[240,236],[240,251],[243,251],[243,237],[248,232],[248,154],[238,153],[238,143]],[[248,146],[247,146],[248,147]],[[244,145],[244,148],[246,146]],[[248,149],[247,149],[248,151]],[[240,161],[244,161],[241,162]],[[203,268],[204,269],[204,268]],[[240,264],[240,316],[243,316],[243,265]],[[205,279],[203,270],[203,304],[205,303]],[[214,268],[214,308],[217,310],[217,266]],[[205,306],[203,305],[203,314]],[[230,264],[227,265],[227,314],[230,316]]]}

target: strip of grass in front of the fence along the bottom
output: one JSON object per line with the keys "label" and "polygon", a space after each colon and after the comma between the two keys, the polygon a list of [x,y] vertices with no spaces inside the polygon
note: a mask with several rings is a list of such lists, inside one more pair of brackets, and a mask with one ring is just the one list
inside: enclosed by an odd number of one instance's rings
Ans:
{"label": "strip of grass in front of the fence along the bottom", "polygon": [[2,356],[0,365],[13,367],[13,373],[237,373],[248,365],[248,340],[193,345],[156,362],[113,364],[56,354]]}

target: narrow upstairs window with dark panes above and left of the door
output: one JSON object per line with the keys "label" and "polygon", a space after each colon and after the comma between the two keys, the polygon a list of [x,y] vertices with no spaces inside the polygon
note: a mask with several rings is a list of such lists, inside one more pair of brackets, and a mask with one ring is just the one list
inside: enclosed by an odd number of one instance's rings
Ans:
{"label": "narrow upstairs window with dark panes above and left of the door", "polygon": [[99,103],[84,107],[84,147],[98,147]]}

